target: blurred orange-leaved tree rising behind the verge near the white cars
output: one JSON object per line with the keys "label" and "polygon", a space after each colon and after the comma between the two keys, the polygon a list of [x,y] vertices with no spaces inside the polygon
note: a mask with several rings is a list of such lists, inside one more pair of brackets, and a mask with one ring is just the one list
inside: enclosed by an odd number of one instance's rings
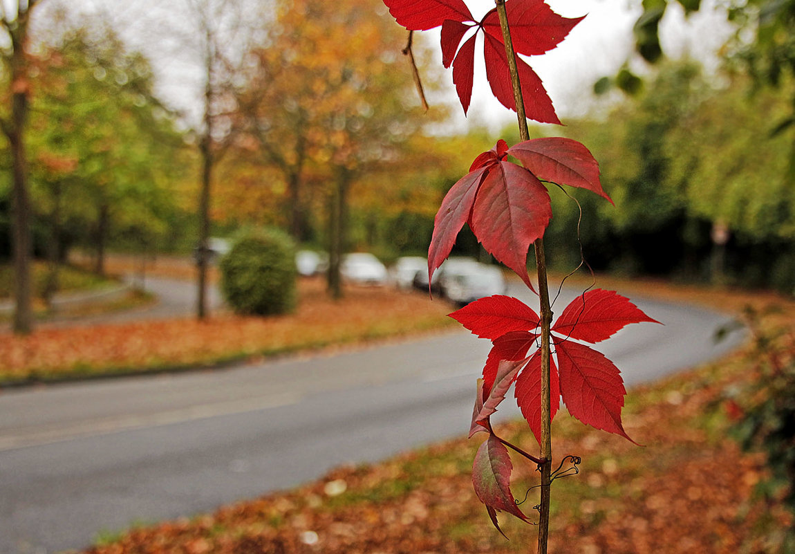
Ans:
{"label": "blurred orange-leaved tree rising behind the verge near the white cars", "polygon": [[[401,56],[405,40],[383,6],[279,2],[264,45],[247,58],[242,124],[263,165],[281,173],[293,237],[307,237],[310,196],[324,196],[332,296],[342,294],[351,187],[397,160],[409,137],[432,121],[420,118]],[[309,183],[320,190],[308,191]]]}

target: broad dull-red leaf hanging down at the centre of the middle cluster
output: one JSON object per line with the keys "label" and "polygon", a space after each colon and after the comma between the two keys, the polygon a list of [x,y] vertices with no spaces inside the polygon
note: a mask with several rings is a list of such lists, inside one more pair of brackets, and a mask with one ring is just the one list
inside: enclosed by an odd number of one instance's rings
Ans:
{"label": "broad dull-red leaf hanging down at the centre of the middle cluster", "polygon": [[469,227],[494,258],[533,289],[527,273],[527,250],[544,234],[549,219],[552,207],[541,181],[521,166],[501,161],[478,189]]}

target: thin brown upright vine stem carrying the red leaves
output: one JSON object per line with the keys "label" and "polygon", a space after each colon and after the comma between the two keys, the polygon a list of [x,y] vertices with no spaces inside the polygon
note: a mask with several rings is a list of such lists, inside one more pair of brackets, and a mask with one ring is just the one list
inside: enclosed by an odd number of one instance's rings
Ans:
{"label": "thin brown upright vine stem carrying the red leaves", "polygon": [[[506,13],[505,0],[494,0],[497,6],[502,39],[505,43],[505,53],[508,59],[510,80],[514,87],[514,101],[516,103],[516,116],[519,124],[519,136],[522,141],[530,138],[525,114],[525,102],[522,99],[522,84],[519,81],[519,72],[516,65],[514,43],[510,38],[508,14]],[[549,540],[549,492],[552,482],[552,431],[550,411],[550,386],[549,386],[549,329],[552,325],[552,308],[549,306],[549,286],[547,284],[546,258],[544,254],[544,240],[538,238],[533,244],[536,255],[536,269],[538,275],[538,297],[541,310],[541,502],[539,504],[540,518],[538,521],[538,549],[537,554],[546,554]]]}

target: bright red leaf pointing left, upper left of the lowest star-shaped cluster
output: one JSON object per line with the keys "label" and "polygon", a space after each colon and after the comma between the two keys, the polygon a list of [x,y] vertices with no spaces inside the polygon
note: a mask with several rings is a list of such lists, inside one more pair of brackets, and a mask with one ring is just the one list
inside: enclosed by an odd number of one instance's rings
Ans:
{"label": "bright red leaf pointing left, upper left of the lowest star-shaped cluster", "polygon": [[538,327],[540,319],[522,300],[502,294],[475,300],[452,312],[450,317],[481,339],[491,340],[510,331],[532,331]]}

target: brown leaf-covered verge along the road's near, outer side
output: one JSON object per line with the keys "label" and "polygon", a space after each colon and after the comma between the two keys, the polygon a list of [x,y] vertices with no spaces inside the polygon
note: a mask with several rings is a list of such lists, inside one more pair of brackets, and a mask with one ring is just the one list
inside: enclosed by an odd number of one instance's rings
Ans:
{"label": "brown leaf-covered verge along the road's near, outer side", "polygon": [[[691,295],[652,284],[644,296],[670,297],[669,290],[679,300],[722,309],[774,300],[781,308],[778,323],[795,322],[795,303],[766,293]],[[762,539],[751,538],[762,518],[780,525],[789,520],[776,506],[754,504],[761,459],[739,451],[727,436],[724,400],[752,378],[743,354],[630,391],[625,428],[644,447],[586,428],[565,413],[556,416],[553,451],[580,455],[583,463],[580,475],[553,485],[550,552],[762,552]],[[461,414],[462,421],[467,416]],[[525,450],[537,449],[522,422],[500,431]],[[479,442],[452,440],[384,463],[342,467],[296,490],[133,529],[86,552],[527,552],[533,527],[501,518],[506,541],[475,498],[469,471]],[[521,499],[537,478],[533,467],[518,459],[514,464],[513,489]],[[530,515],[536,502],[531,491],[522,509]]]}

